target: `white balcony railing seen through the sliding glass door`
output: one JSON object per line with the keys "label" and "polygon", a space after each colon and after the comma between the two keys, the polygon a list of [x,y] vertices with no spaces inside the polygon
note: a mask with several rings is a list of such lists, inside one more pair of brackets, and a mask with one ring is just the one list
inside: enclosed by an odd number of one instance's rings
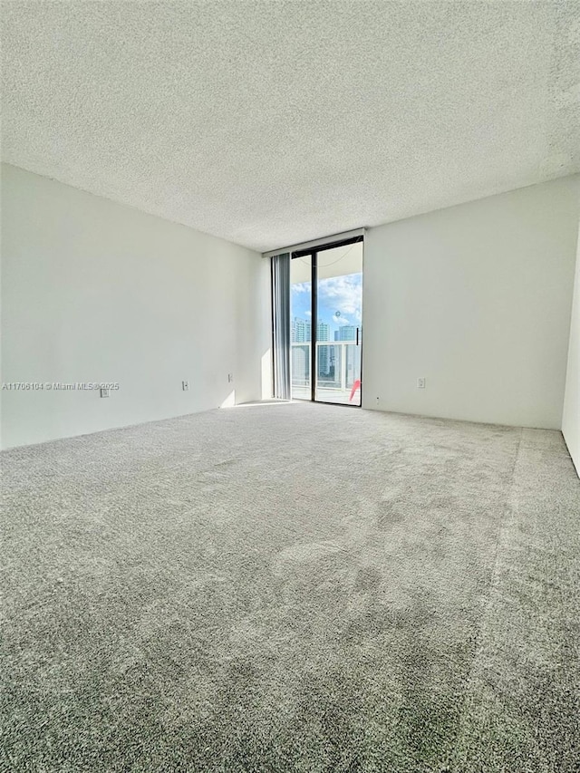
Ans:
{"label": "white balcony railing seen through the sliding glass door", "polygon": [[[292,396],[310,400],[310,342],[292,343]],[[361,347],[354,341],[316,342],[316,400],[357,405],[360,393],[350,400],[354,383],[361,378]]]}

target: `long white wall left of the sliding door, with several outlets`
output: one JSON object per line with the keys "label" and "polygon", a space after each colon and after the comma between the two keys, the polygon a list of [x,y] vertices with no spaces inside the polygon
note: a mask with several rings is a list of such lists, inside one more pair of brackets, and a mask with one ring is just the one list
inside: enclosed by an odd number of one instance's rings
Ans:
{"label": "long white wall left of the sliding door, with several outlets", "polygon": [[[3,447],[261,396],[264,266],[244,247],[2,168]],[[227,374],[234,374],[234,383]],[[182,380],[189,391],[182,391]]]}

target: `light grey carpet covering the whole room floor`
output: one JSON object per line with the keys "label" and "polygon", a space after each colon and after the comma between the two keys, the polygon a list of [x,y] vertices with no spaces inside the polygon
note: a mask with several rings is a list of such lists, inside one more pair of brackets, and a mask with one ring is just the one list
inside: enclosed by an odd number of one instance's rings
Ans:
{"label": "light grey carpet covering the whole room floor", "polygon": [[3,463],[3,771],[580,769],[558,432],[264,405]]}

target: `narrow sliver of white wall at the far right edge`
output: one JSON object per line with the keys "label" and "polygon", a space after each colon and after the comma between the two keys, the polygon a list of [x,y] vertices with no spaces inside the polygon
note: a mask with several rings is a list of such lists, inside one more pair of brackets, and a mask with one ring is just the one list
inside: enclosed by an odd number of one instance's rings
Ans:
{"label": "narrow sliver of white wall at the far right edge", "polygon": [[580,476],[580,229],[576,251],[574,300],[570,320],[562,432],[578,476]]}

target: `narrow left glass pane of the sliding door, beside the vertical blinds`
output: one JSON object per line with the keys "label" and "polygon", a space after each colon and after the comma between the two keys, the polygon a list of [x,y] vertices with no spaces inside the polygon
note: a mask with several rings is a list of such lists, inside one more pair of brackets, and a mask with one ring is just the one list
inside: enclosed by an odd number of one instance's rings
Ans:
{"label": "narrow left glass pane of the sliding door, beside the vertical blinds", "polygon": [[312,256],[290,261],[290,384],[292,400],[312,400]]}

